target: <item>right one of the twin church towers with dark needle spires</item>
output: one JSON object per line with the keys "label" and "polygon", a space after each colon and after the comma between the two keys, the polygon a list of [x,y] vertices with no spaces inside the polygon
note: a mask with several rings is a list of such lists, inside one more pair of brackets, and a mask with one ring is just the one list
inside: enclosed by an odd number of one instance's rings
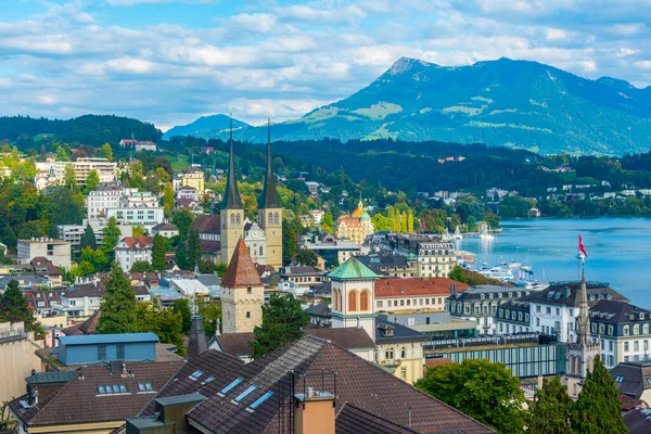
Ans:
{"label": "right one of the twin church towers with dark needle spires", "polygon": [[267,124],[267,173],[265,189],[258,205],[258,226],[267,239],[267,265],[277,270],[282,267],[282,206],[278,200],[273,179],[273,158],[271,157],[271,122]]}

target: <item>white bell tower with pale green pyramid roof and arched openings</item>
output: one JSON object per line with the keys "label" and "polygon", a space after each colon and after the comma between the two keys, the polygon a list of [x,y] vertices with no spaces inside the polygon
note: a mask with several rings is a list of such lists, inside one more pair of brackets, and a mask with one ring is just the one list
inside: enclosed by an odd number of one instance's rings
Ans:
{"label": "white bell tower with pale green pyramid roof and arched openings", "polygon": [[329,272],[328,278],[331,280],[332,328],[361,327],[375,342],[378,275],[353,256]]}

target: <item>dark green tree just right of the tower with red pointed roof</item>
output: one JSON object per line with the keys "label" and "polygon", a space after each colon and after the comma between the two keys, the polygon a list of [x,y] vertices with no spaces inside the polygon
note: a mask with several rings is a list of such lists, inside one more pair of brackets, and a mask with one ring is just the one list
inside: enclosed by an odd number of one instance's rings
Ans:
{"label": "dark green tree just right of the tower with red pointed roof", "polygon": [[309,315],[292,294],[272,294],[263,305],[263,324],[253,331],[253,358],[258,359],[303,336]]}

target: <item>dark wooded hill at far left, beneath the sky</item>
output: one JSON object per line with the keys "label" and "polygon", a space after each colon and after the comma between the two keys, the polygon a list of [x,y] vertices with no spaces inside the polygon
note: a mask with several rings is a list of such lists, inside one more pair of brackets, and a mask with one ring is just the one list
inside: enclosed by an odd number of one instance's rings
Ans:
{"label": "dark wooded hill at far left, beneath the sky", "polygon": [[29,116],[0,117],[0,140],[16,142],[21,150],[38,145],[37,136],[53,136],[66,143],[93,146],[122,139],[159,141],[163,133],[152,124],[113,115],[84,115],[73,119],[47,119]]}

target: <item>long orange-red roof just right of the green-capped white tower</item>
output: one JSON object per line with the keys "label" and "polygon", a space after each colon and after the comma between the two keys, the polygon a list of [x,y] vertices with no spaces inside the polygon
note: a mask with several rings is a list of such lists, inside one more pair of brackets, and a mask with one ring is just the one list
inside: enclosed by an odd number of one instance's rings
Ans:
{"label": "long orange-red roof just right of the green-capped white tower", "polygon": [[395,278],[375,281],[375,298],[408,297],[414,295],[450,295],[450,285],[456,284],[457,291],[465,291],[465,283],[448,278]]}

